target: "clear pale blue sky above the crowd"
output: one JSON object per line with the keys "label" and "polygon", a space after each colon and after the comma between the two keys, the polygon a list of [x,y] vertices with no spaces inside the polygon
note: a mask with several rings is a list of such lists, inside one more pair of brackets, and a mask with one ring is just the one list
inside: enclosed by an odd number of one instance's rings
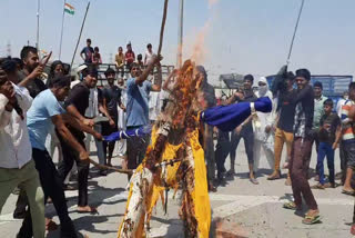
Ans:
{"label": "clear pale blue sky above the crowd", "polygon": [[[71,61],[88,0],[68,0],[75,14],[65,14],[62,60]],[[185,0],[184,58],[204,26],[202,63],[215,82],[220,73],[272,75],[285,63],[301,0]],[[91,38],[103,61],[119,46],[132,42],[135,53],[146,43],[156,50],[163,0],[92,0],[79,52]],[[355,1],[306,0],[291,69],[306,67],[312,73],[355,75]],[[59,54],[63,0],[41,0],[40,48]],[[179,0],[169,1],[163,43],[164,65],[175,65]],[[11,43],[12,56],[36,43],[37,0],[1,0],[0,56]],[[209,22],[209,23],[207,23]],[[200,39],[201,40],[201,39]],[[78,54],[79,56],[79,54]],[[75,58],[75,62],[80,62]]]}

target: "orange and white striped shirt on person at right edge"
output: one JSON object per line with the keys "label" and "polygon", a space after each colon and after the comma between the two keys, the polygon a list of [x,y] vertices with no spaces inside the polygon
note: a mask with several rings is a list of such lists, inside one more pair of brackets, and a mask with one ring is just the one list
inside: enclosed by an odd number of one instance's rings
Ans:
{"label": "orange and white striped shirt on person at right edge", "polygon": [[347,142],[355,142],[355,121],[348,118],[348,111],[353,105],[355,101],[346,100],[342,107],[343,141]]}

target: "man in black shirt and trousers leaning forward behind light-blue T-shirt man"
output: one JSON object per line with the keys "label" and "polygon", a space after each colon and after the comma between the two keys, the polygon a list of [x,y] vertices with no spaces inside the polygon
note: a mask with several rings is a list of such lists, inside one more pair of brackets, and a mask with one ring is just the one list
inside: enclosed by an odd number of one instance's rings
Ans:
{"label": "man in black shirt and trousers leaning forward behind light-blue T-shirt man", "polygon": [[[70,91],[64,107],[70,116],[79,119],[87,126],[92,127],[94,125],[92,119],[84,118],[85,110],[89,106],[89,95],[90,88],[94,88],[98,82],[98,71],[93,67],[88,67],[84,72],[84,80]],[[70,132],[74,136],[78,142],[82,147],[85,147],[83,139],[84,133],[75,128],[68,126]],[[102,136],[95,131],[91,131],[97,139],[102,139]],[[78,211],[79,212],[93,212],[95,208],[88,206],[88,176],[89,176],[89,165],[80,160],[79,153],[71,149],[62,137],[59,136],[59,140],[62,145],[63,160],[60,162],[58,172],[59,177],[64,181],[69,171],[72,169],[73,162],[77,162],[78,167],[78,186],[79,186],[79,198],[78,198]]]}

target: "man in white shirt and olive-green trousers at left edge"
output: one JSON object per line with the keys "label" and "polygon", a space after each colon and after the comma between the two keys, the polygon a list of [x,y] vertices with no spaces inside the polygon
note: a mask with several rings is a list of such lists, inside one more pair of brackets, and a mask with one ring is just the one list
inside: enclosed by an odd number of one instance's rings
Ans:
{"label": "man in white shirt and olive-green trousers at left edge", "polygon": [[24,88],[11,83],[0,70],[0,211],[19,186],[28,196],[33,237],[43,238],[44,195],[32,160],[32,148],[27,129],[26,112],[32,98]]}

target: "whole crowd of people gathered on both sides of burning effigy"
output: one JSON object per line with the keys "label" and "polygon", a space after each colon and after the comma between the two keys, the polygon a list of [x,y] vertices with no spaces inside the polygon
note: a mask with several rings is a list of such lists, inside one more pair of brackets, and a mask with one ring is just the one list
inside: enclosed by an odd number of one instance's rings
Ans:
{"label": "whole crowd of people gathered on both sides of burning effigy", "polygon": [[[90,206],[88,196],[92,137],[100,165],[112,167],[118,146],[122,167],[135,169],[145,156],[150,136],[131,137],[118,142],[106,142],[103,136],[153,125],[164,110],[179,73],[179,69],[174,70],[163,82],[162,58],[153,53],[152,44],[146,46],[144,59],[142,54],[135,59],[129,43],[125,53],[122,47],[118,49],[115,68],[108,68],[104,72],[108,85],[99,88],[98,66],[102,60],[99,48],[93,49],[90,39],[81,57],[84,65],[77,70],[81,80],[74,80],[64,65],[55,60],[51,63],[45,83],[42,76],[50,56],[40,60],[33,47],[23,47],[20,59],[6,58],[0,61],[0,210],[18,187],[20,192],[13,216],[23,218],[18,237],[40,238],[44,237],[45,228],[55,229],[55,224],[44,218],[47,202],[54,205],[61,224],[61,237],[78,237],[68,214],[64,190],[75,189],[68,181],[72,173],[77,173],[77,211],[97,211],[95,207]],[[261,97],[268,97],[273,102],[272,112],[253,113],[233,131],[204,126],[203,148],[210,191],[215,192],[219,186],[235,175],[235,159],[241,157],[236,149],[243,139],[251,184],[258,185],[262,155],[265,155],[273,170],[268,180],[281,179],[281,167],[287,168],[285,184],[292,186],[294,201],[283,206],[300,210],[303,197],[308,207],[304,224],[312,225],[321,219],[312,189],[335,188],[335,180],[339,178],[344,186],[343,194],[355,195],[352,185],[355,167],[355,82],[348,86],[344,99],[336,107],[332,99],[323,96],[322,82],[311,85],[307,69],[298,69],[295,73],[284,69],[272,88],[266,78],[261,77],[256,91],[253,89],[254,77],[246,75],[241,90],[230,97],[216,98],[213,86],[207,81],[206,70],[202,66],[196,70],[204,79],[201,85],[204,109],[254,102]],[[125,71],[130,72],[126,80],[123,77]],[[281,166],[284,143],[287,152]],[[314,168],[317,182],[310,186],[313,145],[317,151]],[[55,148],[59,157],[57,166],[52,160]],[[337,148],[342,172],[335,175],[334,155]],[[230,170],[226,171],[229,156]],[[325,157],[328,176],[324,172]],[[105,176],[106,172],[100,168],[98,176]],[[355,232],[355,226],[352,231]]]}

